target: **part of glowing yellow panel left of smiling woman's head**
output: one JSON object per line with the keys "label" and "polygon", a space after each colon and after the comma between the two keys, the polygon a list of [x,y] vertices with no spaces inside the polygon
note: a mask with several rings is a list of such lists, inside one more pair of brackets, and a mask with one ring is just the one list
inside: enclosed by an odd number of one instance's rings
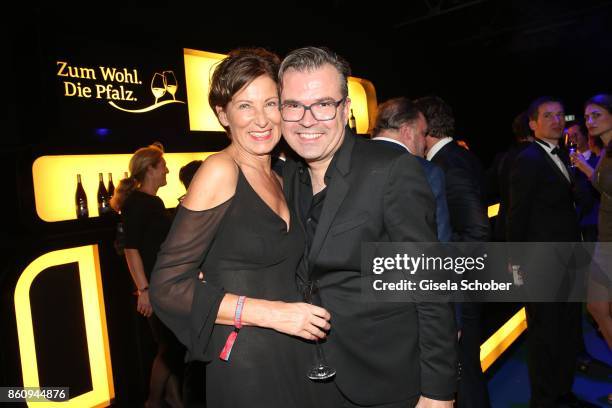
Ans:
{"label": "part of glowing yellow panel left of smiling woman's head", "polygon": [[225,55],[187,48],[183,53],[190,129],[223,132],[217,117],[208,105],[208,91],[214,65],[225,58]]}

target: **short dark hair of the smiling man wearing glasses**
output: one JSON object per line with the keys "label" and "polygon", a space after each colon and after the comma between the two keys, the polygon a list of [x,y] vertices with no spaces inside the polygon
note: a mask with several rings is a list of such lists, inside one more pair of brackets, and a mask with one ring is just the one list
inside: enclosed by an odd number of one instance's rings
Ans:
{"label": "short dark hair of the smiling man wearing glasses", "polygon": [[348,77],[351,75],[351,67],[344,58],[327,47],[298,48],[287,54],[278,71],[280,90],[283,89],[283,75],[289,69],[298,72],[311,72],[325,64],[333,66],[340,74],[340,92],[342,97],[346,98],[348,96]]}

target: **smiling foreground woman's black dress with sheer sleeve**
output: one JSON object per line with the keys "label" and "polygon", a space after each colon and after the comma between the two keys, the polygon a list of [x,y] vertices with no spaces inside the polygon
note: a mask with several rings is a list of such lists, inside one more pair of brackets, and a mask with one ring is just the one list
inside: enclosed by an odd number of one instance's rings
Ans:
{"label": "smiling foreground woman's black dress with sheer sleeve", "polygon": [[[204,211],[180,206],[151,281],[155,312],[208,361],[208,407],[314,407],[308,367],[313,346],[271,329],[245,326],[229,361],[219,358],[232,326],[216,325],[224,293],[301,301],[295,271],[304,238],[255,193],[239,171],[235,195]],[[200,270],[204,282],[197,279]]]}

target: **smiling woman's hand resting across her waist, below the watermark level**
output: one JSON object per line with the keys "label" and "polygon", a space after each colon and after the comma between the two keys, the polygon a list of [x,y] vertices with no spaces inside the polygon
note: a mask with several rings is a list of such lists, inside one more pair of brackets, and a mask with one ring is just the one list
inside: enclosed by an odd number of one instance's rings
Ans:
{"label": "smiling woman's hand resting across her waist, below the watermark level", "polygon": [[271,302],[266,326],[306,340],[323,339],[331,327],[329,312],[308,303]]}

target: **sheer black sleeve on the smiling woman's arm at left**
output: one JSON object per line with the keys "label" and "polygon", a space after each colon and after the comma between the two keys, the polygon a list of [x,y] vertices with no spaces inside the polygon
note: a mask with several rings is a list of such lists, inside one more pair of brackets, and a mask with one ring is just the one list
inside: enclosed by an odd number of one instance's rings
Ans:
{"label": "sheer black sleeve on the smiling woman's arm at left", "polygon": [[194,360],[210,361],[214,354],[208,342],[225,293],[198,274],[231,201],[204,211],[179,205],[151,274],[153,310]]}

